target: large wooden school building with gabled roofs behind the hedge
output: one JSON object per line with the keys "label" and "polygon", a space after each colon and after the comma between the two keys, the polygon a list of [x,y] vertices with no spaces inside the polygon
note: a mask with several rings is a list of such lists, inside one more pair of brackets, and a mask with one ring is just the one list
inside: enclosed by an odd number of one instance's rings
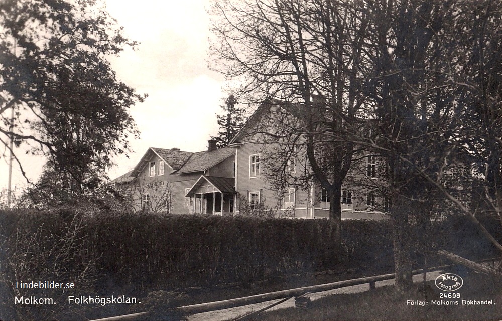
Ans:
{"label": "large wooden school building with gabled roofs behind the hedge", "polygon": [[[270,107],[259,108],[228,147],[217,149],[215,141],[209,140],[206,151],[195,153],[149,148],[133,171],[111,183],[134,211],[328,218],[329,195],[314,179],[302,185],[290,184],[287,179],[280,182],[280,187],[271,184],[267,167],[275,164],[274,159],[271,162],[267,158],[277,146],[267,141],[263,131],[254,130],[264,113],[280,108]],[[305,150],[301,143],[299,146],[290,149],[283,165],[291,178],[308,171]],[[458,177],[466,178],[468,173],[459,176],[456,172],[468,172],[467,168],[465,163],[457,162],[448,170],[455,172],[457,179],[445,180],[445,188],[460,195],[466,204],[470,183],[466,179],[460,182]],[[387,192],[388,174],[388,164],[382,157],[364,150],[354,155],[342,185],[342,219],[386,219],[392,206]]]}

